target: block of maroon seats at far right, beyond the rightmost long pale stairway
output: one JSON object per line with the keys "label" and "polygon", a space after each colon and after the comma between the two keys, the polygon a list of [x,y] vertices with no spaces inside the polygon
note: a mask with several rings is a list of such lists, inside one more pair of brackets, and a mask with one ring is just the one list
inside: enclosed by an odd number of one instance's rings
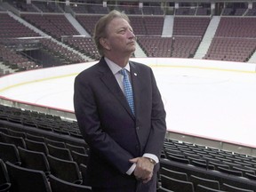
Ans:
{"label": "block of maroon seats at far right, beyond the rightmost long pale stairway", "polygon": [[256,49],[255,18],[221,18],[204,59],[246,62]]}

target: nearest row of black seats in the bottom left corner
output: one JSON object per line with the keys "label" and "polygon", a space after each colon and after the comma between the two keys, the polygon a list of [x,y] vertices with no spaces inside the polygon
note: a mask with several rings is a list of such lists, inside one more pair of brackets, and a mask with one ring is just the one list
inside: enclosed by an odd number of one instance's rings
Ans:
{"label": "nearest row of black seats in the bottom left corner", "polygon": [[0,189],[6,192],[88,192],[90,187],[0,159]]}

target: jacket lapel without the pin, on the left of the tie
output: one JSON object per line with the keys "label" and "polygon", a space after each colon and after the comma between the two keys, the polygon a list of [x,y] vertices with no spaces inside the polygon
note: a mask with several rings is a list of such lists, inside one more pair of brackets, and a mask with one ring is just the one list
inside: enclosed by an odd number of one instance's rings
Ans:
{"label": "jacket lapel without the pin, on the left of the tie", "polygon": [[[101,81],[108,87],[108,90],[116,97],[116,100],[119,100],[121,105],[126,109],[126,111],[134,118],[132,110],[129,107],[129,104],[122,92],[119,84],[116,82],[116,77],[113,75],[108,64],[104,59],[100,60],[100,71],[102,72]],[[115,107],[114,107],[115,108]]]}

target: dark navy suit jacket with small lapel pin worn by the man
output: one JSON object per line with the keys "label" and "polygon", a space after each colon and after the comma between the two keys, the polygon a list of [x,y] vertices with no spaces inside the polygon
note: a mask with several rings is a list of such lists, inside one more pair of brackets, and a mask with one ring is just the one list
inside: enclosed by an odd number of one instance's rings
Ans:
{"label": "dark navy suit jacket with small lapel pin worn by the man", "polygon": [[76,76],[76,118],[90,146],[85,180],[94,187],[122,187],[136,182],[134,176],[125,174],[132,166],[129,159],[144,153],[159,157],[163,148],[165,111],[152,69],[129,63],[135,116],[104,58]]}

